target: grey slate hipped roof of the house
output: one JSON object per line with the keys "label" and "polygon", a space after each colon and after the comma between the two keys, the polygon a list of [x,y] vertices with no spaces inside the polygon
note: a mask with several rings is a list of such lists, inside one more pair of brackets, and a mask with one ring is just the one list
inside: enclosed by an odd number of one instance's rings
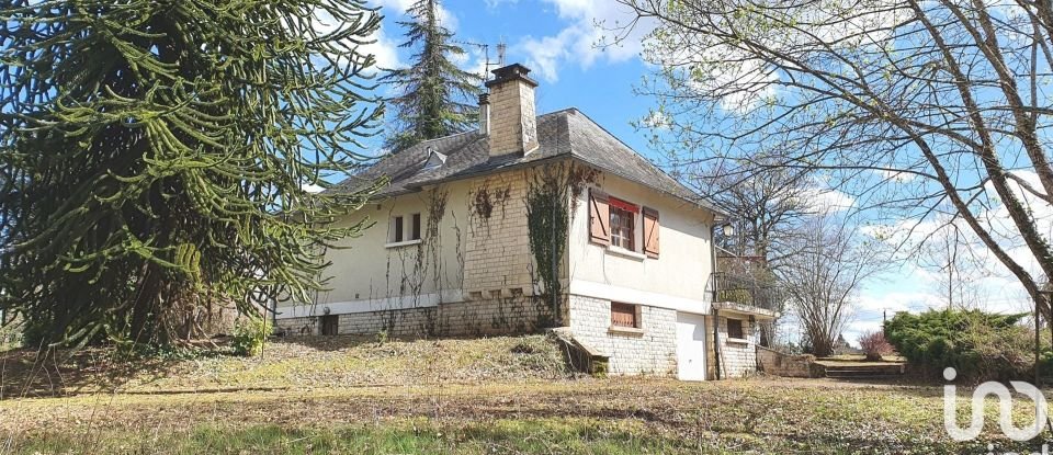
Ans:
{"label": "grey slate hipped roof of the house", "polygon": [[[488,137],[477,130],[426,140],[381,159],[330,191],[351,192],[386,175],[390,183],[375,197],[394,196],[416,192],[428,184],[521,168],[544,160],[576,158],[604,172],[723,213],[577,109],[539,115],[537,141],[540,147],[524,157],[510,155],[490,159]],[[445,155],[446,161],[441,167],[424,169],[432,150]]]}

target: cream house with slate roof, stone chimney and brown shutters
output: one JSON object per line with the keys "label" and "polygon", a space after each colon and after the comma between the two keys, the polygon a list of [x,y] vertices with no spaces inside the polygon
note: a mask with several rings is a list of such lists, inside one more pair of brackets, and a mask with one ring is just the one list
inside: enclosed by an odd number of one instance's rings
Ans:
{"label": "cream house with slate roof, stone chimney and brown shutters", "polygon": [[[388,156],[341,223],[331,291],[278,307],[286,333],[476,337],[562,327],[611,374],[741,376],[772,314],[713,302],[721,212],[576,109],[536,115],[529,69],[494,71],[479,129]],[[714,322],[715,321],[715,322]]]}

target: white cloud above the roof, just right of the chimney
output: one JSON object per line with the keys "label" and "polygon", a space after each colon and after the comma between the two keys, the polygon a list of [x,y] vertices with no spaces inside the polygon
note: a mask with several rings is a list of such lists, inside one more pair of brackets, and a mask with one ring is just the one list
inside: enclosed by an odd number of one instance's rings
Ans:
{"label": "white cloud above the roof, just right of the chimney", "polygon": [[[598,60],[619,62],[639,55],[643,36],[650,31],[638,23],[627,36],[620,27],[636,15],[626,7],[600,0],[545,0],[556,7],[561,19],[570,22],[551,36],[523,37],[513,50],[524,54],[526,66],[537,70],[542,78],[555,82],[559,69],[576,62],[589,68]],[[623,38],[623,39],[619,39]]]}

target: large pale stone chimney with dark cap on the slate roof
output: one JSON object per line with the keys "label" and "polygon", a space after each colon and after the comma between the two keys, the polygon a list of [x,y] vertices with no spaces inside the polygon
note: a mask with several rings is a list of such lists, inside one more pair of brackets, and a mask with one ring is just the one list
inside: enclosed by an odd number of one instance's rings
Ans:
{"label": "large pale stone chimney with dark cap on the slate roof", "polygon": [[[537,82],[526,77],[526,67],[512,64],[494,70],[486,82],[490,90],[486,120],[490,134],[490,158],[523,156],[537,149],[537,121],[534,88]],[[482,102],[480,102],[482,107]]]}

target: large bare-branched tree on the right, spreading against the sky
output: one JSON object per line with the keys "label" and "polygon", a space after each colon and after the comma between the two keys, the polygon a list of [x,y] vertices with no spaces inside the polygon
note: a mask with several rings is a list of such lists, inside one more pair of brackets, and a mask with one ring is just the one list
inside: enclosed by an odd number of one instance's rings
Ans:
{"label": "large bare-branched tree on the right, spreading against the sky", "polygon": [[678,164],[822,172],[897,225],[947,204],[1050,316],[1053,3],[620,1],[657,24],[642,91]]}

